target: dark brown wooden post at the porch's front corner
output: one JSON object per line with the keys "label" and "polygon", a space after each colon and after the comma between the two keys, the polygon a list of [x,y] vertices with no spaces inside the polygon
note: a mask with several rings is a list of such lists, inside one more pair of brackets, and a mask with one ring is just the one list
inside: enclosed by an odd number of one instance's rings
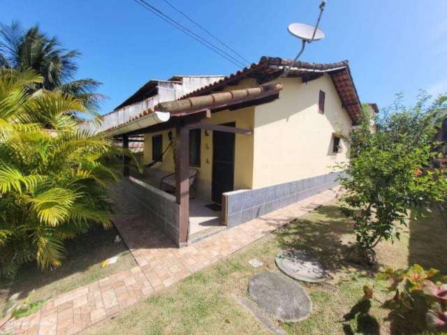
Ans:
{"label": "dark brown wooden post at the porch's front corner", "polygon": [[188,239],[189,226],[189,128],[177,124],[175,142],[175,198],[180,205],[179,242]]}

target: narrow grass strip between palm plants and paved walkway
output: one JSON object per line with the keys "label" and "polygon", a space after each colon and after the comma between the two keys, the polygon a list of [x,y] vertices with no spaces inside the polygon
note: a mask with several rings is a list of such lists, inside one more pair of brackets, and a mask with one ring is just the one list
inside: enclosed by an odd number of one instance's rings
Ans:
{"label": "narrow grass strip between palm plants and paved walkway", "polygon": [[[0,283],[0,318],[9,308],[8,297],[17,292],[20,300],[35,290],[32,300],[48,299],[68,292],[87,283],[101,279],[109,274],[130,269],[136,265],[133,256],[121,241],[115,243],[115,228],[104,230],[95,225],[87,234],[67,241],[67,258],[61,267],[40,271],[36,263],[24,265],[12,283]],[[115,264],[101,267],[101,262],[118,255]]]}

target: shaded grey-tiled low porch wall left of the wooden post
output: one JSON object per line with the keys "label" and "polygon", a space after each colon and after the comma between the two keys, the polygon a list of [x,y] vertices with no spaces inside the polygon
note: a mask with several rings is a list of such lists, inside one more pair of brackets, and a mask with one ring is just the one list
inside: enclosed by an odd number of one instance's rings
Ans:
{"label": "shaded grey-tiled low porch wall left of the wooden post", "polygon": [[135,200],[136,207],[139,207],[148,225],[156,226],[180,246],[179,204],[173,195],[133,177],[123,180],[123,190],[126,196]]}

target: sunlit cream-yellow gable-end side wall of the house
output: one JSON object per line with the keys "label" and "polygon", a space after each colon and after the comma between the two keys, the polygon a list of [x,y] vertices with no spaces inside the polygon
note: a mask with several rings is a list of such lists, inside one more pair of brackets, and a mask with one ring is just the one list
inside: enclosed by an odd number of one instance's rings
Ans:
{"label": "sunlit cream-yellow gable-end side wall of the house", "polygon": [[[351,119],[342,108],[328,75],[303,84],[300,78],[279,78],[279,99],[255,107],[253,188],[315,177],[346,161],[349,144],[332,153],[333,133],[347,135]],[[324,114],[318,112],[319,91],[325,92]]]}

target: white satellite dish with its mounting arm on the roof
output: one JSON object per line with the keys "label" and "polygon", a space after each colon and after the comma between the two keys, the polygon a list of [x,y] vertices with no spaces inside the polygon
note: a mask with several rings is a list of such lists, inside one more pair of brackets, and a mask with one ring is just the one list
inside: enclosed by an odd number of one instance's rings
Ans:
{"label": "white satellite dish with its mounting arm on the roof", "polygon": [[291,65],[284,68],[284,73],[281,75],[281,77],[287,77],[289,71],[291,70],[291,67],[295,61],[300,58],[302,52],[305,51],[306,43],[312,43],[314,40],[322,40],[325,35],[321,29],[318,29],[318,25],[320,24],[321,15],[323,15],[324,6],[326,4],[326,1],[323,0],[320,4],[320,15],[318,15],[318,20],[316,21],[316,25],[311,26],[310,24],[305,23],[292,23],[288,25],[288,32],[292,34],[295,37],[300,38],[301,40],[301,50],[298,52],[296,57],[291,61]]}

